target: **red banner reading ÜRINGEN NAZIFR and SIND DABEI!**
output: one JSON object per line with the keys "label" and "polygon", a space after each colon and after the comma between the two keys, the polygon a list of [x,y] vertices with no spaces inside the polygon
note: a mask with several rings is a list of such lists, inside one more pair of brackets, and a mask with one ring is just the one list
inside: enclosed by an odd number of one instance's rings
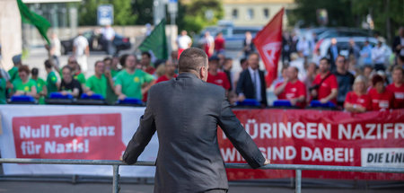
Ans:
{"label": "red banner reading \u00dcRINGEN NAZIFR and SIND DABEI!", "polygon": [[[353,114],[328,110],[234,110],[272,163],[404,167],[404,110]],[[224,162],[245,162],[223,132]],[[229,180],[294,177],[294,171],[228,169]],[[303,171],[305,178],[404,180],[400,173]]]}

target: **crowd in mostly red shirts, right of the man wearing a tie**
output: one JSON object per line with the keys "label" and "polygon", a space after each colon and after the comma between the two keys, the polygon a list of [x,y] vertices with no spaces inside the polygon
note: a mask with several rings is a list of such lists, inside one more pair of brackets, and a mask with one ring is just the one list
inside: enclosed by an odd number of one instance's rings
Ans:
{"label": "crowd in mostly red shirts, right of the man wearing a tie", "polygon": [[[289,35],[292,34],[292,35]],[[386,56],[388,48],[379,37],[374,47],[369,40],[359,47],[349,39],[347,53],[338,47],[336,38],[330,39],[325,56],[318,60],[313,45],[316,41],[299,38],[295,33],[283,35],[283,68],[274,81],[274,92],[279,100],[294,100],[286,97],[286,85],[292,78],[286,70],[289,66],[298,72],[297,79],[308,91],[307,104],[317,100],[332,103],[338,109],[352,112],[368,110],[390,110],[404,108],[404,86],[402,56],[404,56],[404,29],[392,43],[394,56]],[[341,56],[341,54],[347,56]],[[387,57],[395,57],[393,62]],[[292,74],[293,75],[293,74]],[[295,97],[295,95],[293,95]],[[304,107],[304,106],[297,106]]]}

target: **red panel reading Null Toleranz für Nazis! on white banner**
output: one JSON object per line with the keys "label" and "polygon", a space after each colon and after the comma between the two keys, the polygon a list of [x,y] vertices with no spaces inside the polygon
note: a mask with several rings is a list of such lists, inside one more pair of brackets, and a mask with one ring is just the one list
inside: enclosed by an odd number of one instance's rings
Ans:
{"label": "red panel reading Null Toleranz f\u00fcr Nazis! on white banner", "polygon": [[17,158],[119,160],[120,114],[13,118]]}

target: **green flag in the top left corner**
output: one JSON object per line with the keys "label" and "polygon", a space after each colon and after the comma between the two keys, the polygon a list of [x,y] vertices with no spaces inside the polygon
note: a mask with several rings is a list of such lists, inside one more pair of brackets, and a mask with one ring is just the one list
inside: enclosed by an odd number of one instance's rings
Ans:
{"label": "green flag in the top left corner", "polygon": [[40,35],[42,35],[42,37],[47,40],[48,44],[50,44],[47,36],[47,31],[50,27],[48,20],[37,13],[31,12],[27,5],[22,3],[22,0],[17,0],[17,4],[18,9],[20,9],[22,22],[34,25],[38,31],[40,31]]}

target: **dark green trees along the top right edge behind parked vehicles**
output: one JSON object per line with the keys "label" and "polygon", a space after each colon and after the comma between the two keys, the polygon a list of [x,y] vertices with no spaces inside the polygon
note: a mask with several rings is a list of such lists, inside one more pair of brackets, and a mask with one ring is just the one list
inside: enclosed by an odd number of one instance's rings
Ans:
{"label": "dark green trees along the top right edge behind parked vehicles", "polygon": [[292,24],[303,23],[303,27],[317,26],[317,9],[326,9],[329,16],[328,26],[360,28],[366,15],[371,14],[374,31],[379,31],[388,42],[404,24],[404,4],[402,0],[296,0],[297,7],[288,19]]}

